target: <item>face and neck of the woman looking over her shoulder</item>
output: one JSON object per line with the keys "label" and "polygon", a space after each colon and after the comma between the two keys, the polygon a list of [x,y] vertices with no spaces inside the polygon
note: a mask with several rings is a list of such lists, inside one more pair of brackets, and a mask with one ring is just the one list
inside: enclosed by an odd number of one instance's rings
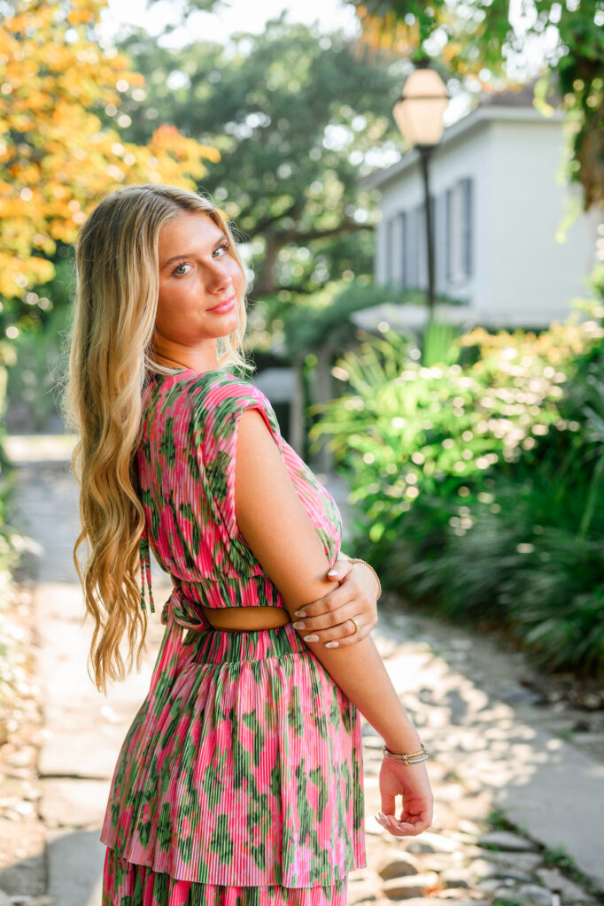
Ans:
{"label": "face and neck of the woman looking over her shoulder", "polygon": [[207,214],[183,211],[161,227],[159,260],[157,352],[186,367],[215,367],[215,341],[236,330],[243,289],[229,238]]}

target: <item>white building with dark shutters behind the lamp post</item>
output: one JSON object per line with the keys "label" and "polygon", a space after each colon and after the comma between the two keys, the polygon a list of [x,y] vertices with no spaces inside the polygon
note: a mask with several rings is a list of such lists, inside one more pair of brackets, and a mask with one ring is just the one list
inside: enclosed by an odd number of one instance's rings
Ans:
{"label": "white building with dark shutters behind the lamp post", "polygon": [[[597,212],[580,214],[560,241],[580,187],[563,180],[563,113],[532,106],[532,85],[487,95],[444,130],[431,166],[435,289],[461,299],[451,320],[493,327],[541,327],[564,318],[596,263]],[[379,188],[375,282],[397,288],[427,284],[424,185],[412,149],[392,167],[360,181]],[[391,309],[391,306],[388,306]],[[402,323],[424,313],[398,309]],[[389,312],[392,314],[392,311]],[[369,327],[382,314],[358,313]],[[389,320],[393,321],[392,317]]]}

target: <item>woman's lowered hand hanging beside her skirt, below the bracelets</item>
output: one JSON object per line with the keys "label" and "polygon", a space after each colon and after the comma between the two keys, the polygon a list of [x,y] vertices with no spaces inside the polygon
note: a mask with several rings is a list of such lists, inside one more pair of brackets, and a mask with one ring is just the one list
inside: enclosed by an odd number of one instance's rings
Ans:
{"label": "woman's lowered hand hanging beside her skirt, below the bracelets", "polygon": [[[393,836],[416,836],[432,824],[434,799],[424,762],[404,765],[395,758],[385,757],[380,768],[380,795],[382,812],[377,821]],[[397,795],[403,796],[403,808],[398,818]]]}

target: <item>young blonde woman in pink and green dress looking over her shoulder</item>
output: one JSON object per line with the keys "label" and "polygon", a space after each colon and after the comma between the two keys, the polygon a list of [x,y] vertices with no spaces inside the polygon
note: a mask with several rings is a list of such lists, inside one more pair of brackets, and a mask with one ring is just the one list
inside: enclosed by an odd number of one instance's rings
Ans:
{"label": "young blonde woman in pink and green dress looking over her shoulder", "polygon": [[431,824],[426,756],[369,634],[379,580],[336,563],[335,501],[228,371],[250,368],[229,224],[201,195],[122,188],[76,269],[65,414],[99,689],[124,677],[124,634],[132,669],[139,630],[140,668],[150,545],[173,583],[112,778],[102,904],[345,906],[366,864],[358,711],[385,739],[395,836]]}

